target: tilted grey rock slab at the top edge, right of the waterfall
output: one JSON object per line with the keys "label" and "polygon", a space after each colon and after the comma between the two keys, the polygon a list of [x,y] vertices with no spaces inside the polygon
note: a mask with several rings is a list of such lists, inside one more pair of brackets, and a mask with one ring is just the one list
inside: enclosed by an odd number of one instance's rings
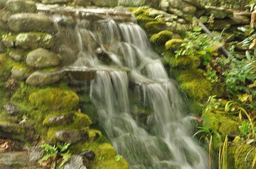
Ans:
{"label": "tilted grey rock slab at the top edge, right of the waterfall", "polygon": [[184,13],[194,15],[197,7],[180,0],[170,0],[170,6],[181,10]]}

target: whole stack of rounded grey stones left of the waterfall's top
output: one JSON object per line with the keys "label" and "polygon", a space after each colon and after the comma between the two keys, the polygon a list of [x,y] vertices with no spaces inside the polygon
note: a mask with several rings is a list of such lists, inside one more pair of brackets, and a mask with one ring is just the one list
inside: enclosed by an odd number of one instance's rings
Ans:
{"label": "whole stack of rounded grey stones left of the waterfall's top", "polygon": [[[47,31],[52,26],[52,21],[46,15],[37,13],[34,1],[9,0],[0,4],[6,13],[1,21],[7,25],[2,26],[2,29],[10,31],[4,35],[2,43],[10,49],[9,56],[13,60],[26,63],[23,68],[12,69],[13,77],[26,80],[27,85],[32,86],[45,86],[59,81],[65,74],[63,71],[39,71],[61,63],[61,56],[50,50],[54,40]],[[25,73],[27,67],[35,72]]]}

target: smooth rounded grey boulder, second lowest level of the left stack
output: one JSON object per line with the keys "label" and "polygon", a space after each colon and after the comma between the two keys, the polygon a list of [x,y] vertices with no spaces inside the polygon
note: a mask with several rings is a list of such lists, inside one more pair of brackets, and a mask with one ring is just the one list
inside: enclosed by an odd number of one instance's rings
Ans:
{"label": "smooth rounded grey boulder, second lowest level of the left stack", "polygon": [[58,66],[60,64],[60,56],[47,49],[38,48],[27,55],[26,64],[34,68]]}

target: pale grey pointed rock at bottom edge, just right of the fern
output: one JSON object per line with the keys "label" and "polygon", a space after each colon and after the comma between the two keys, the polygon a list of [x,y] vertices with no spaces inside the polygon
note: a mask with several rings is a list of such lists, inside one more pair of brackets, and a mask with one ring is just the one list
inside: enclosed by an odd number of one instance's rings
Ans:
{"label": "pale grey pointed rock at bottom edge, just right of the fern", "polygon": [[80,155],[72,155],[70,159],[61,167],[61,169],[87,169],[83,164],[83,158]]}

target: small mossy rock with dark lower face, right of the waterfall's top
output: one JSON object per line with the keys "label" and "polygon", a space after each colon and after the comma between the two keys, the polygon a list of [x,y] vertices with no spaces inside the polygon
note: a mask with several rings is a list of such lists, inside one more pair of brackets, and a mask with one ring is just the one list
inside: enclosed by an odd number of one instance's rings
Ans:
{"label": "small mossy rock with dark lower face, right of the waterfall's top", "polygon": [[165,44],[166,41],[168,41],[170,38],[172,38],[173,32],[164,30],[159,32],[158,34],[154,34],[151,38],[150,41],[151,43],[155,43],[157,45],[163,45]]}

